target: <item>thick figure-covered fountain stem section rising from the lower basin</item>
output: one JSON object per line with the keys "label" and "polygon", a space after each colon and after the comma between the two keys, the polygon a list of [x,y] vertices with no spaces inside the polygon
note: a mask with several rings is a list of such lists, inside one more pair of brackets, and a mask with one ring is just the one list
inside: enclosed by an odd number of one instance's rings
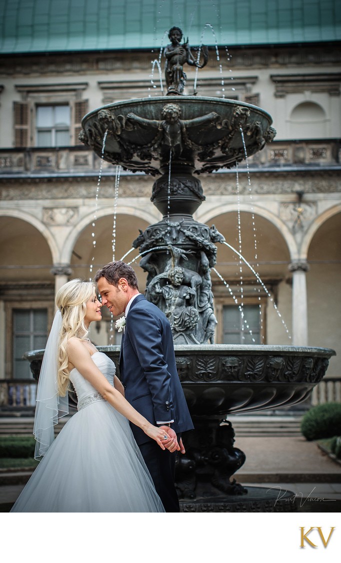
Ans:
{"label": "thick figure-covered fountain stem section rising from the lower basin", "polygon": [[169,319],[176,344],[214,343],[213,240],[224,240],[214,225],[210,229],[193,218],[179,221],[170,216],[133,243],[140,244],[140,253],[147,252],[140,261],[148,272],[146,297]]}

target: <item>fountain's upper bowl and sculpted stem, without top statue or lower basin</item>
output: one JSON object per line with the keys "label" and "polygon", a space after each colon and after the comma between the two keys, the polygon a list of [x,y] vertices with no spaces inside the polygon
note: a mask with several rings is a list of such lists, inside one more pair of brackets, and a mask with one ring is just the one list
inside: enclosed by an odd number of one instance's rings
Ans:
{"label": "fountain's upper bowl and sculpted stem, without top statue or lower basin", "polygon": [[192,217],[204,200],[193,173],[230,168],[261,150],[275,136],[271,123],[255,106],[196,96],[118,102],[82,120],[80,140],[104,160],[161,175],[151,199],[162,221],[141,231],[133,246],[148,272],[146,297],[169,319],[175,344],[213,343],[217,322],[210,269],[215,243],[225,239]]}

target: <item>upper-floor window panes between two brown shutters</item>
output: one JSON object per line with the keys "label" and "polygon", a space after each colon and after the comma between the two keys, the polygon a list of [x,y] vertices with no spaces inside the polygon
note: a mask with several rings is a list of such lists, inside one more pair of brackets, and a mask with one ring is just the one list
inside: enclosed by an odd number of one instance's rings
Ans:
{"label": "upper-floor window panes between two brown shutters", "polygon": [[70,106],[37,105],[36,129],[37,146],[69,146]]}

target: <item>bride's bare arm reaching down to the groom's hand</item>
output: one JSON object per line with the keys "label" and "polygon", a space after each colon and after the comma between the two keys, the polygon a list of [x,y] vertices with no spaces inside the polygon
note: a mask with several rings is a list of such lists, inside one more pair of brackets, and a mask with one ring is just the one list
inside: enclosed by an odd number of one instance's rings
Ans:
{"label": "bride's bare arm reaching down to the groom's hand", "polygon": [[165,449],[161,440],[165,439],[167,432],[148,422],[142,414],[138,413],[137,410],[128,403],[120,391],[110,385],[97,365],[94,364],[90,352],[78,338],[70,338],[67,345],[67,355],[69,356],[69,361],[78,369],[82,376],[101,393],[108,403],[118,410],[119,413],[128,418],[130,422],[139,426],[147,436],[157,442],[161,449]]}

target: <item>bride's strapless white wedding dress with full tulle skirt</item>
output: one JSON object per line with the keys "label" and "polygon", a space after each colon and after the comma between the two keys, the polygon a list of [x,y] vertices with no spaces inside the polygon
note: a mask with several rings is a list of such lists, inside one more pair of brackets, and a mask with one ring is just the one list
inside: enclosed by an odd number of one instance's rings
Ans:
{"label": "bride's strapless white wedding dress with full tulle skirt", "polygon": [[[115,364],[94,363],[113,385]],[[53,441],[11,512],[165,512],[128,420],[74,368],[75,413]]]}

